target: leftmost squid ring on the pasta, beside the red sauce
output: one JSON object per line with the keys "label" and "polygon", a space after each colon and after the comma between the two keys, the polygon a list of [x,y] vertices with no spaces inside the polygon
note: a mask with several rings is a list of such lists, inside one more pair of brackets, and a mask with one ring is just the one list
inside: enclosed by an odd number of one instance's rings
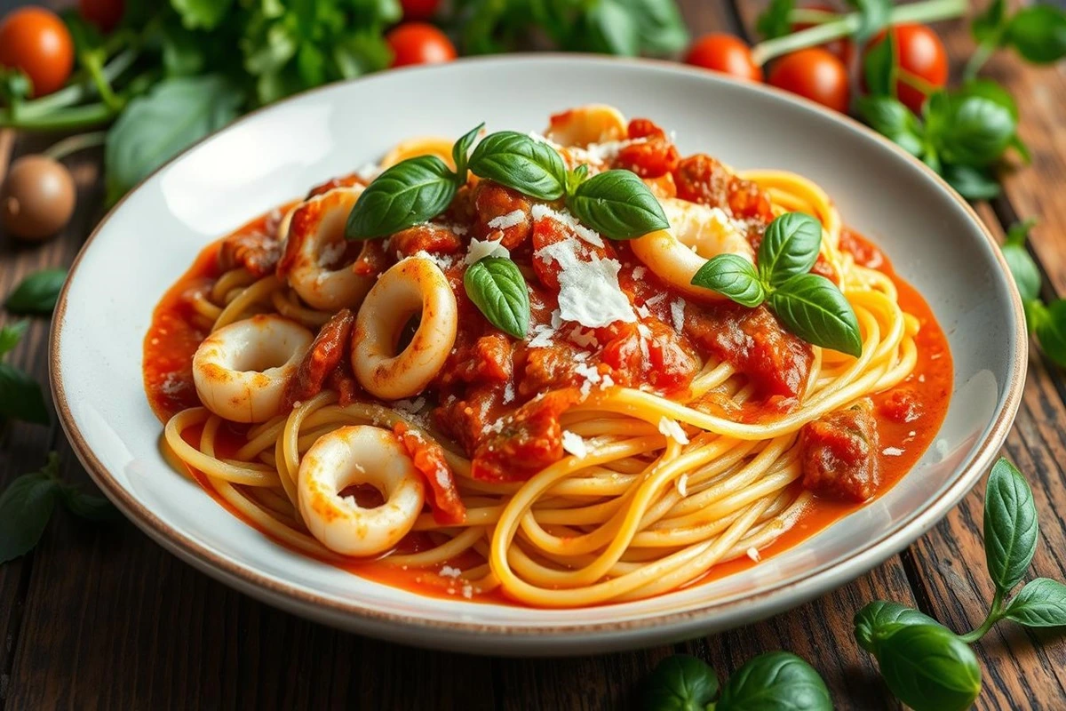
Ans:
{"label": "leftmost squid ring on the pasta, beside the red sauce", "polygon": [[232,422],[265,422],[314,336],[294,321],[259,314],[214,332],[193,355],[200,402]]}

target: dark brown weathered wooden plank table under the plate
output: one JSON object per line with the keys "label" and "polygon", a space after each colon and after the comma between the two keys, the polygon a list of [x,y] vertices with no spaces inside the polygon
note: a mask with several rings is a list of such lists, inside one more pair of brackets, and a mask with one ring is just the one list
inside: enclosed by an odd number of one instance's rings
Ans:
{"label": "dark brown weathered wooden plank table under the plate", "polygon": [[[758,11],[755,3],[717,0],[682,5],[694,34],[743,34]],[[972,49],[967,30],[959,23],[943,31],[959,65]],[[1021,134],[1033,163],[1004,174],[1003,197],[978,209],[996,233],[1019,217],[1039,217],[1033,252],[1047,277],[1045,297],[1054,297],[1066,293],[1066,67],[1031,68],[1004,53],[986,71],[1021,104]],[[17,157],[45,145],[12,138],[0,138],[0,174],[12,151]],[[99,153],[79,155],[69,165],[79,187],[70,226],[42,246],[23,246],[0,232],[0,294],[32,271],[69,264],[99,220]],[[11,354],[43,383],[47,340],[47,321],[34,320]],[[54,419],[50,427],[14,423],[0,431],[0,486],[37,469],[53,449],[63,458],[63,475],[91,486]],[[1066,377],[1035,350],[1005,453],[1029,475],[1040,512],[1032,576],[1066,579]],[[31,554],[0,566],[0,710],[617,709],[633,705],[640,680],[673,652],[696,655],[724,675],[778,648],[813,664],[838,708],[898,708],[852,639],[852,616],[885,598],[956,630],[978,625],[992,596],[981,543],[982,497],[979,486],[899,555],[786,614],[674,646],[567,660],[447,655],[345,634],[225,587],[130,523],[100,528],[56,515]],[[1062,637],[998,626],[976,645],[984,668],[978,708],[1066,706]]]}

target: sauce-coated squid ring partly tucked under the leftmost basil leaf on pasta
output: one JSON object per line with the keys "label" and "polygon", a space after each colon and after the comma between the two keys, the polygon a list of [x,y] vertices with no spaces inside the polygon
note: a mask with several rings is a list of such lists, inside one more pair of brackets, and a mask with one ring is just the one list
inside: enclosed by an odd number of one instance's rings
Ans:
{"label": "sauce-coated squid ring partly tucked under the leftmost basil leaf on pasta", "polygon": [[351,265],[330,263],[348,248],[344,224],[362,190],[362,185],[335,188],[301,203],[282,220],[285,255],[277,275],[311,308],[356,308],[373,285]]}

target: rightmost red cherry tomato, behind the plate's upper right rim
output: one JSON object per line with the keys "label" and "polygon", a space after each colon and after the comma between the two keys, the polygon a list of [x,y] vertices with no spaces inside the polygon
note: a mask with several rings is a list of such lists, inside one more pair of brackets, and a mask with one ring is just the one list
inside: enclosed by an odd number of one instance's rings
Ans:
{"label": "rightmost red cherry tomato, behind the plate's upper right rim", "polygon": [[[918,113],[925,97],[948,83],[948,52],[936,32],[924,25],[897,25],[892,28],[892,38],[899,66],[895,95]],[[882,31],[866,51],[869,53],[884,41]]]}

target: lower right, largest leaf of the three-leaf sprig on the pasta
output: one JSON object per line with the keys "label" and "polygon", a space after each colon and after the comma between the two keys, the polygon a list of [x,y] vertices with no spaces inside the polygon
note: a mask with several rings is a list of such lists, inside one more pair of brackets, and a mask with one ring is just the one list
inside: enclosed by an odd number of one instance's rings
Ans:
{"label": "lower right, largest leaf of the three-leaf sprig on the pasta", "polygon": [[855,357],[862,354],[855,310],[824,276],[797,274],[771,293],[769,303],[785,327],[808,343]]}

